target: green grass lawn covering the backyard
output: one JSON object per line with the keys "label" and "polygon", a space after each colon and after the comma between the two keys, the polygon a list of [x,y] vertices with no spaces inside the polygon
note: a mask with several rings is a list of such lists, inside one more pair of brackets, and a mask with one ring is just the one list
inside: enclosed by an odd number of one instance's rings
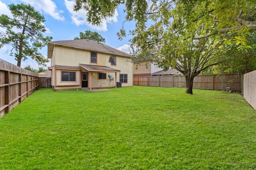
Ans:
{"label": "green grass lawn covering the backyard", "polygon": [[40,89],[0,119],[0,169],[256,169],[239,94]]}

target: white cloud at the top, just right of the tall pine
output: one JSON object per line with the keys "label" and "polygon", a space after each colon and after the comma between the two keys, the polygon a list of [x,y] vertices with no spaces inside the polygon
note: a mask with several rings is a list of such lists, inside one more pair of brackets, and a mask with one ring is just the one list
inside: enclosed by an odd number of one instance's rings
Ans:
{"label": "white cloud at the top, just right of the tall pine", "polygon": [[56,4],[52,0],[19,0],[26,4],[30,4],[39,12],[44,12],[52,16],[52,18],[56,20],[63,21],[65,18],[64,16],[60,15],[63,11],[58,11]]}

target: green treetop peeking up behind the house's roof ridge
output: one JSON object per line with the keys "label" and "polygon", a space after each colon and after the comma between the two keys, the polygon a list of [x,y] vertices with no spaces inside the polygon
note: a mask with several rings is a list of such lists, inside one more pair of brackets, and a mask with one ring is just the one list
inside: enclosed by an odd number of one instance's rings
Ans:
{"label": "green treetop peeking up behind the house's roof ridge", "polygon": [[90,39],[99,43],[106,43],[105,38],[103,38],[99,33],[90,30],[86,30],[84,33],[80,32],[79,37],[75,37],[74,39]]}

